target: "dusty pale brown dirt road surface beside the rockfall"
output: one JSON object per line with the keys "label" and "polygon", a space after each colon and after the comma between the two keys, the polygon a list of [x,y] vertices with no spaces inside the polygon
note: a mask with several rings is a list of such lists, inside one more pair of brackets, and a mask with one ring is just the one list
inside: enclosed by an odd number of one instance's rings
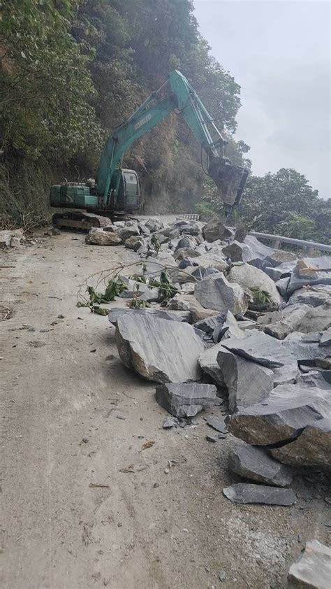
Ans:
{"label": "dusty pale brown dirt road surface beside the rockfall", "polygon": [[89,274],[135,259],[43,232],[1,255],[0,304],[13,311],[0,322],[1,587],[285,587],[304,541],[327,540],[330,491],[308,476],[293,507],[232,504],[235,439],[209,443],[205,413],[162,429],[154,385],[122,365],[115,328],[75,306]]}

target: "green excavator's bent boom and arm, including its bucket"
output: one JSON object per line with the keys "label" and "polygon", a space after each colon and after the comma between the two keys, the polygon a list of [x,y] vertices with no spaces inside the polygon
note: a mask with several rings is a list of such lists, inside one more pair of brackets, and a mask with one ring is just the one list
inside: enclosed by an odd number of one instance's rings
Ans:
{"label": "green excavator's bent boom and arm, including its bucket", "polygon": [[[117,127],[105,143],[97,174],[98,201],[103,203],[103,206],[109,206],[112,177],[126,149],[173,111],[182,115],[205,150],[208,160],[207,173],[219,189],[227,216],[233,206],[240,201],[248,171],[230,164],[226,157],[226,141],[214,125],[198,94],[177,70],[170,73],[168,80],[159,90],[152,92],[133,115]],[[216,134],[216,141],[213,141],[208,125]]]}

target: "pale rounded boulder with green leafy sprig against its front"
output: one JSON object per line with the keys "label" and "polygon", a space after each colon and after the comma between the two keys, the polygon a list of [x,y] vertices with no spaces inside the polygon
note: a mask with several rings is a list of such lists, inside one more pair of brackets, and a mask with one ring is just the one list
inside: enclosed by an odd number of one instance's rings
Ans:
{"label": "pale rounded boulder with green leafy sprig against its front", "polygon": [[[240,284],[251,295],[253,298],[253,302],[249,304],[251,308],[258,308],[258,310],[278,308],[281,303],[281,296],[272,278],[267,276],[263,270],[259,270],[250,264],[233,266],[228,279],[230,283]],[[262,298],[259,299],[258,295],[263,291],[267,292],[267,299],[262,295]]]}

